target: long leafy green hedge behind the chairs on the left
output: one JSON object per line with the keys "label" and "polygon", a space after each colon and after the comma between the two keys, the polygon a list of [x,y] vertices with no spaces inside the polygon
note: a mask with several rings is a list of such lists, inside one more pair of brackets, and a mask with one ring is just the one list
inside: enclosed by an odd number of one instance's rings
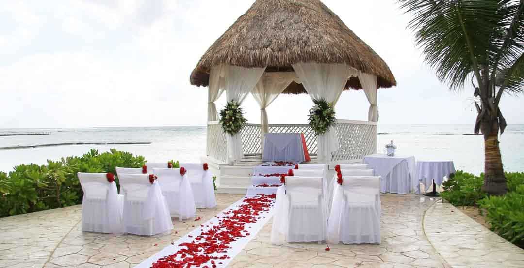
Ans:
{"label": "long leafy green hedge behind the chairs on the left", "polygon": [[[19,165],[6,174],[0,172],[0,217],[18,215],[82,203],[77,172],[113,172],[116,167],[138,168],[143,156],[111,149],[99,154],[95,149],[81,157],[47,161],[47,165]],[[118,179],[116,180],[117,186]]]}

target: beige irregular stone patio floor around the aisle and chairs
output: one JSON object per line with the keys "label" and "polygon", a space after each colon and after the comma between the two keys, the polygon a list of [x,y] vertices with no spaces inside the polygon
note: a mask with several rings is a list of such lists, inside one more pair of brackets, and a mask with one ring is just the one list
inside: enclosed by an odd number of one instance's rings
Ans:
{"label": "beige irregular stone patio floor around the aisle and chairs", "polygon": [[[0,218],[0,267],[133,267],[187,234],[242,195],[217,194],[201,220],[174,220],[169,235],[82,232],[81,206]],[[271,220],[230,267],[523,267],[524,250],[451,204],[418,195],[384,194],[379,245],[269,243]]]}

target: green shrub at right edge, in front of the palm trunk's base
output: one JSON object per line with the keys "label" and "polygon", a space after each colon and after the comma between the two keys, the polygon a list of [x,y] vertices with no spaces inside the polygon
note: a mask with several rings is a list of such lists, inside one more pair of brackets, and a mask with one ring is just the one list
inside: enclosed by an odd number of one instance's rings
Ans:
{"label": "green shrub at right edge, in front of the palm trunk's base", "polygon": [[524,247],[524,185],[503,196],[489,196],[478,201],[486,211],[486,221],[501,237]]}

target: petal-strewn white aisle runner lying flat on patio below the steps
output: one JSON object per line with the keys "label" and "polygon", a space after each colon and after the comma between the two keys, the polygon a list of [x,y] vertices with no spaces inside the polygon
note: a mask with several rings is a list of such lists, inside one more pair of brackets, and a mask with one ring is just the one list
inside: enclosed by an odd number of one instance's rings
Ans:
{"label": "petal-strewn white aisle runner lying flat on patio below the steps", "polygon": [[244,197],[136,267],[225,267],[271,218],[275,195]]}

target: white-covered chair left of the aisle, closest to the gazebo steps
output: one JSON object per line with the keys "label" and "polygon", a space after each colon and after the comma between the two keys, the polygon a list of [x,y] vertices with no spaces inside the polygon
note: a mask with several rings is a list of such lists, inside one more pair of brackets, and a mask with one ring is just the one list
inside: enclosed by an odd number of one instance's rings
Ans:
{"label": "white-covered chair left of the aisle, closest to the gazebo steps", "polygon": [[215,188],[211,171],[209,169],[204,170],[204,164],[202,163],[180,163],[179,166],[184,167],[188,171],[186,175],[191,182],[196,207],[215,207]]}

